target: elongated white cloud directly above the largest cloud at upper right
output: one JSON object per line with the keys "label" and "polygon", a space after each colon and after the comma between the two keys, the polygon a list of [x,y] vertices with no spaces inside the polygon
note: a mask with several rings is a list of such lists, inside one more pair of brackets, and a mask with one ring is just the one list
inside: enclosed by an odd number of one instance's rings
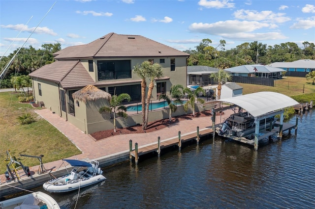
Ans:
{"label": "elongated white cloud directly above the largest cloud at upper right", "polygon": [[274,23],[284,23],[291,20],[289,17],[285,17],[285,13],[274,13],[273,11],[265,10],[258,12],[256,10],[244,10],[240,9],[233,13],[234,17],[241,20],[251,21],[268,21]]}

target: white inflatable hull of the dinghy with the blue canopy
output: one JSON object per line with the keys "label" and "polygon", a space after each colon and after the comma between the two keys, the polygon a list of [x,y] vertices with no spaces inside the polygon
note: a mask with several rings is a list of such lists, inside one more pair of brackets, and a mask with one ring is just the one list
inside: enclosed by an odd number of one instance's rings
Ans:
{"label": "white inflatable hull of the dinghy with the blue canopy", "polygon": [[[58,178],[43,184],[43,188],[49,192],[69,192],[79,188],[93,185],[105,181],[106,178],[99,174],[88,179],[77,179],[75,181],[67,181],[68,176]],[[65,183],[66,182],[66,183]]]}

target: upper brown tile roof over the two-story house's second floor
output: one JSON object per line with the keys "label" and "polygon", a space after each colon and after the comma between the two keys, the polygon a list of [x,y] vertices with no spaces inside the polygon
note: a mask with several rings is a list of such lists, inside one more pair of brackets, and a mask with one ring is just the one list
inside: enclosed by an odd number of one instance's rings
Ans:
{"label": "upper brown tile roof over the two-story house's second floor", "polygon": [[89,44],[67,47],[54,53],[54,56],[55,59],[79,59],[97,57],[189,56],[189,54],[140,35],[108,33]]}

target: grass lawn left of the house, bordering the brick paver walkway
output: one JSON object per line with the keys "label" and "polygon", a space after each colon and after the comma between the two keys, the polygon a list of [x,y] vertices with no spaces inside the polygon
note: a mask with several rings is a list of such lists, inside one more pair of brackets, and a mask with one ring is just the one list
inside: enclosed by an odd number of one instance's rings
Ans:
{"label": "grass lawn left of the house, bordering the brick paver walkway", "polygon": [[[39,117],[31,104],[18,102],[20,94],[0,93],[0,174],[6,171],[6,151],[25,166],[39,165],[34,157],[21,157],[20,154],[40,156],[43,162],[51,162],[81,153],[60,131]],[[30,113],[34,123],[21,125],[18,117]]]}

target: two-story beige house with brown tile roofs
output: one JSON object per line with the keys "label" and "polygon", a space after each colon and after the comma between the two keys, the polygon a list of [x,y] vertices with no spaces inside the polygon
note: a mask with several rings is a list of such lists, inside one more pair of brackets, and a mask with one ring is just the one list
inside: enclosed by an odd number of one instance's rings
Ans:
{"label": "two-story beige house with brown tile roofs", "polygon": [[[143,61],[159,63],[164,77],[155,80],[153,99],[169,92],[172,85],[186,86],[188,53],[181,52],[140,35],[108,33],[95,41],[67,47],[54,53],[55,62],[32,72],[34,99],[86,133],[112,129],[98,111],[82,110],[81,101],[72,94],[87,85],[94,85],[109,94],[127,93],[132,101],[141,100],[141,79],[133,67]],[[149,79],[147,80],[147,88]],[[98,110],[100,103],[87,108]],[[93,114],[91,113],[93,112]],[[118,124],[118,128],[132,126]],[[142,121],[140,122],[142,123]]]}

